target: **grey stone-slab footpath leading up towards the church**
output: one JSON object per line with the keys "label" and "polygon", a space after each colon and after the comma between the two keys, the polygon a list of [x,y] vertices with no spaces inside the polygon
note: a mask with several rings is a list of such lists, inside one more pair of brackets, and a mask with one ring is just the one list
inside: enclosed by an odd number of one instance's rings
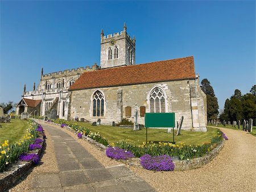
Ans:
{"label": "grey stone-slab footpath leading up towards the church", "polygon": [[43,127],[51,135],[59,172],[36,174],[33,191],[155,191],[126,166],[105,168],[64,131]]}

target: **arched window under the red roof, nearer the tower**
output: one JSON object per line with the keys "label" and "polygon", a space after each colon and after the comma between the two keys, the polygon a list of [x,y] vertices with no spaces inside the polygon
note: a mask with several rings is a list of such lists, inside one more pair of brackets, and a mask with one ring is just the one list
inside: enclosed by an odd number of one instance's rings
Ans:
{"label": "arched window under the red roof, nearer the tower", "polygon": [[97,90],[93,94],[93,116],[104,116],[104,95]]}

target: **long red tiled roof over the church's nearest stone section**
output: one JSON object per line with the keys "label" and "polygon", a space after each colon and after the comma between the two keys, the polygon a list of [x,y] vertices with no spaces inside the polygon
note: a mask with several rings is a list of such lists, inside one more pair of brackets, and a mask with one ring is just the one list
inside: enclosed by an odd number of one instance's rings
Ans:
{"label": "long red tiled roof over the church's nearest stone section", "polygon": [[119,66],[84,72],[69,88],[81,90],[98,87],[146,84],[195,78],[193,56],[147,64]]}

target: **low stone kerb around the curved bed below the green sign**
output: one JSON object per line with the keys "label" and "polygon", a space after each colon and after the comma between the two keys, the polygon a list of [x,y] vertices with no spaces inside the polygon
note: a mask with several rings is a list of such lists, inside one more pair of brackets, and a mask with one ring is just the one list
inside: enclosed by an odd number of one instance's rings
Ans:
{"label": "low stone kerb around the curved bed below the green sign", "polygon": [[[48,122],[48,123],[52,123],[52,124],[55,124],[56,126],[60,126],[60,124],[58,124],[58,123],[53,123],[53,122]],[[77,131],[72,130],[71,127],[68,127],[68,126],[64,126],[64,127],[67,128],[67,130],[69,130],[75,134],[78,133]],[[96,145],[98,148],[100,148],[101,151],[106,150],[106,147],[104,145],[102,145],[101,143],[98,143],[97,141],[94,141],[90,137],[82,136],[82,138],[88,140],[89,143]],[[218,144],[216,148],[214,148],[212,151],[210,151],[208,155],[205,155],[203,157],[192,158],[189,161],[188,160],[174,160],[173,161],[175,164],[174,170],[196,169],[196,168],[200,168],[203,165],[208,164],[208,162],[212,161],[213,158],[215,158],[218,155],[218,153],[224,147],[224,143],[225,143],[225,140],[222,140],[221,143]],[[117,161],[123,162],[127,165],[140,166],[142,168],[141,160],[139,160],[139,158],[129,158],[128,160],[117,160]]]}

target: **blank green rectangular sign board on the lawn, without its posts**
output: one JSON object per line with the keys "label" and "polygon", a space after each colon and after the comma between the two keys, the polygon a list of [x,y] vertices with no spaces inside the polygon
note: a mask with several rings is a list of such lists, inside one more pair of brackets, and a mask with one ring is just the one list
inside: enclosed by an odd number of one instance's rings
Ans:
{"label": "blank green rectangular sign board on the lawn, without its posts", "polygon": [[174,112],[146,112],[145,127],[175,127]]}

